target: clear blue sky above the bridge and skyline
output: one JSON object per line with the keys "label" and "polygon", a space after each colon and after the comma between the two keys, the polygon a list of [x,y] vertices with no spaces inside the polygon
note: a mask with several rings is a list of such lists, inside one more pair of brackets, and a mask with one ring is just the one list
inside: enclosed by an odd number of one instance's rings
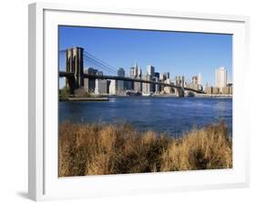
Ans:
{"label": "clear blue sky above the bridge and skyline", "polygon": [[[230,35],[79,26],[59,26],[58,32],[59,50],[81,46],[109,65],[123,67],[126,73],[137,62],[142,73],[148,65],[155,66],[156,72],[169,72],[171,78],[184,75],[190,79],[201,73],[203,85],[214,86],[215,69],[225,66],[232,79]],[[59,56],[64,69],[64,53]]]}

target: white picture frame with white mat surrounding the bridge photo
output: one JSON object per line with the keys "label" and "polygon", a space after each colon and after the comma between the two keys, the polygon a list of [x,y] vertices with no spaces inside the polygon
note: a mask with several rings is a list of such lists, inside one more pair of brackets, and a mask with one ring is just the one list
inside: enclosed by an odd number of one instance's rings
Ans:
{"label": "white picture frame with white mat surrounding the bridge photo", "polygon": [[[173,11],[91,8],[86,5],[29,5],[30,199],[74,199],[194,189],[249,186],[249,133],[245,92],[249,17]],[[233,35],[233,168],[57,177],[57,26],[101,26]],[[51,68],[49,68],[51,67]]]}

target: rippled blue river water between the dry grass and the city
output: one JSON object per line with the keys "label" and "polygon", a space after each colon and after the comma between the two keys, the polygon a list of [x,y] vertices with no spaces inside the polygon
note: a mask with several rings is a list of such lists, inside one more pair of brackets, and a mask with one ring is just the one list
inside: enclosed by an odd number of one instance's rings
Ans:
{"label": "rippled blue river water between the dry grass and the city", "polygon": [[138,130],[178,137],[182,132],[224,120],[232,131],[232,98],[110,97],[106,102],[59,102],[59,122],[128,122]]}

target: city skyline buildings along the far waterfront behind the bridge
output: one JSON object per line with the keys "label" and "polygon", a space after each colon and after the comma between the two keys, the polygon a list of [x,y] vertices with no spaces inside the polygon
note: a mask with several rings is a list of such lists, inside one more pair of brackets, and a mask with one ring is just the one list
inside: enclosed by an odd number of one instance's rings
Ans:
{"label": "city skyline buildings along the far waterfront behind the bridge", "polygon": [[[93,67],[89,67],[84,71],[85,74],[103,76],[103,72],[97,71]],[[117,76],[130,77],[134,79],[143,79],[147,81],[155,81],[166,84],[172,84],[179,87],[189,87],[194,90],[203,90],[201,82],[201,74],[198,76],[192,76],[191,78],[186,78],[185,76],[175,76],[171,80],[169,72],[159,73],[156,72],[154,66],[147,66],[145,74],[142,74],[142,69],[135,63],[134,66],[130,67],[128,74],[126,75],[125,69],[123,67],[118,68]],[[227,70],[225,67],[220,67],[215,71],[215,87],[204,87],[205,93],[209,95],[232,95],[232,83],[227,84]],[[138,81],[122,81],[122,80],[103,80],[103,79],[93,79],[85,78],[84,80],[84,90],[87,93],[96,95],[127,95],[128,91],[135,92],[138,94],[177,94],[180,96],[182,89],[174,87],[166,87],[164,85],[152,84],[152,83],[142,83]],[[183,90],[184,92],[184,90]]]}

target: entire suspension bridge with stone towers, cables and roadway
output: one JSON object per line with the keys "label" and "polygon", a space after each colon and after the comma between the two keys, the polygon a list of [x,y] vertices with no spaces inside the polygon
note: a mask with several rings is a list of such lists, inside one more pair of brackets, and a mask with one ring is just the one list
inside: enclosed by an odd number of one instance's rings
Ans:
{"label": "entire suspension bridge with stone towers, cables and roadway", "polygon": [[[159,85],[161,87],[171,87],[176,90],[176,94],[178,97],[184,97],[185,91],[190,91],[198,94],[205,94],[205,92],[201,90],[196,90],[190,87],[184,87],[184,83],[180,85],[174,85],[172,83],[164,83],[161,81],[154,80],[145,80],[139,77],[127,77],[127,76],[116,76],[118,70],[108,65],[108,63],[99,59],[97,56],[93,56],[82,47],[72,47],[65,50],[60,50],[59,54],[66,55],[66,71],[61,71],[59,69],[59,77],[66,77],[66,86],[69,88],[69,93],[71,95],[74,94],[75,90],[81,87],[84,87],[85,78],[93,79],[93,80],[115,80],[115,81],[129,81],[129,82],[139,82],[145,84]],[[100,71],[108,71],[113,73],[112,75],[97,75],[97,74],[89,74],[84,70],[85,62],[90,62],[98,68]],[[103,72],[102,72],[103,73]],[[115,75],[114,75],[115,73]]]}

